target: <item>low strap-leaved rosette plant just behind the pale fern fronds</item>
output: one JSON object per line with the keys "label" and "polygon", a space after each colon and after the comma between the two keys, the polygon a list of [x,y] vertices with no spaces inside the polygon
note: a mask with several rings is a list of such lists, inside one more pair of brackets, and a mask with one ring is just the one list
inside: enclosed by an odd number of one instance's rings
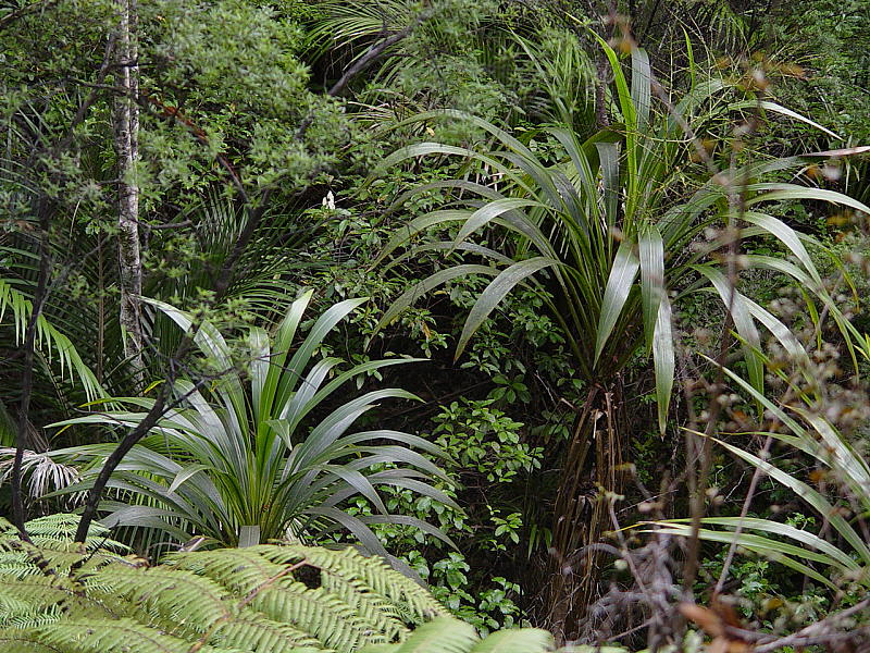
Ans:
{"label": "low strap-leaved rosette plant just behind the pale fern fronds", "polygon": [[[389,515],[376,488],[394,485],[452,504],[426,481],[445,478],[417,447],[439,456],[427,441],[397,431],[374,429],[348,433],[376,403],[385,398],[413,399],[397,389],[368,392],[320,418],[326,402],[361,374],[408,362],[386,359],[339,371],[338,358],[315,360],[324,337],[365,299],[349,299],[326,310],[294,349],[302,315],[311,299],[304,293],[293,303],[270,342],[252,328],[245,343],[247,364],[237,369],[233,349],[208,322],[196,344],[215,373],[200,372],[178,381],[177,407],[126,456],[109,482],[120,500],[104,502],[109,525],[141,526],[175,538],[201,534],[224,545],[247,545],[271,539],[310,539],[336,529],[349,530],[370,551],[385,554],[370,523],[428,525],[402,515]],[[149,303],[183,330],[190,315],[154,300]],[[153,405],[147,397],[116,399],[129,408],[94,412],[54,426],[103,424],[135,427]],[[391,444],[384,444],[390,442]],[[54,452],[63,460],[85,460],[80,482],[69,491],[89,486],[111,444]],[[373,466],[387,469],[373,470]],[[341,502],[362,495],[375,514],[351,516]]]}

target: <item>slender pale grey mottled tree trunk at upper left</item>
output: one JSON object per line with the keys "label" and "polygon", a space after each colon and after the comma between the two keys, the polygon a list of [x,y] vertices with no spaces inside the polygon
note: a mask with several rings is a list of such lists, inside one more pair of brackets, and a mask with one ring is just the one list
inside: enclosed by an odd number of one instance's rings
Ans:
{"label": "slender pale grey mottled tree trunk at upper left", "polygon": [[121,326],[124,354],[136,382],[142,380],[141,307],[142,268],[139,250],[139,187],[135,181],[139,156],[138,48],[136,0],[117,0],[119,33],[115,85],[123,90],[114,100],[114,147],[117,158],[117,258],[121,274]]}

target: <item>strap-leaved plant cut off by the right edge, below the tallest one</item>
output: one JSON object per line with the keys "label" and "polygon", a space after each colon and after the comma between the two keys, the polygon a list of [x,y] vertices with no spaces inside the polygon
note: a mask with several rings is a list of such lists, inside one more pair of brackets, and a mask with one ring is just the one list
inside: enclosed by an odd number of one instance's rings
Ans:
{"label": "strap-leaved plant cut off by the right edge, below the tallest one", "polygon": [[[847,438],[831,421],[829,415],[840,411],[835,401],[812,401],[818,378],[807,374],[800,382],[792,380],[787,396],[793,401],[788,402],[762,395],[731,369],[724,369],[724,373],[738,392],[763,406],[767,419],[759,429],[721,433],[714,439],[716,444],[748,464],[759,478],[767,477],[784,488],[799,500],[801,507],[809,507],[816,518],[790,523],[784,515],[758,516],[747,512],[738,516],[704,517],[698,537],[783,565],[818,588],[841,596],[841,601],[845,597],[847,605],[850,597],[867,595],[870,461],[862,451],[866,443],[860,438]],[[855,420],[866,419],[863,406],[841,409],[855,414]],[[741,444],[747,436],[763,443],[759,451],[754,453]],[[774,452],[784,455],[774,457]],[[788,470],[782,463],[775,463],[778,458],[787,461],[795,456],[811,463],[809,471]],[[813,523],[823,528],[813,532]],[[691,519],[646,525],[666,534],[693,535]]]}

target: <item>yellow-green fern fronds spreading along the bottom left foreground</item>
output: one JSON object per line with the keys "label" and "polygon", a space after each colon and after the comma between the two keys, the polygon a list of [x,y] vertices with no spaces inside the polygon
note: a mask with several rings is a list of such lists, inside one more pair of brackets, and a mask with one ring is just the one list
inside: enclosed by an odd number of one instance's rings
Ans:
{"label": "yellow-green fern fronds spreading along the bottom left foreground", "polygon": [[179,552],[156,566],[77,519],[0,519],[0,652],[445,653],[551,650],[544,630],[481,640],[432,595],[352,547]]}

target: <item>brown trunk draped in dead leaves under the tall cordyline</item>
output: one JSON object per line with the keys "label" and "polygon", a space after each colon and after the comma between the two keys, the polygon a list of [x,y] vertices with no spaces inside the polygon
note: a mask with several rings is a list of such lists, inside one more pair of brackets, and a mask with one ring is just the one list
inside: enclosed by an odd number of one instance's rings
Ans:
{"label": "brown trunk draped in dead leaves under the tall cordyline", "polygon": [[593,386],[581,408],[562,465],[554,512],[547,626],[562,642],[576,639],[596,599],[601,554],[595,545],[612,530],[605,493],[624,485],[624,432],[618,384]]}

